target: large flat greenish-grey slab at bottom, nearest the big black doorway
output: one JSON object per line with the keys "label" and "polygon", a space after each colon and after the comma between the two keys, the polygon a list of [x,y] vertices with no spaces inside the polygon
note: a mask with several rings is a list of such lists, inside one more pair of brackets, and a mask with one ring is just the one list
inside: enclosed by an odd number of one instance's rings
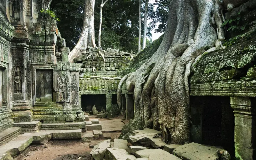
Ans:
{"label": "large flat greenish-grey slab at bottom, nearest the big black doorway", "polygon": [[189,143],[177,147],[173,154],[185,160],[218,160],[218,150],[198,143]]}

